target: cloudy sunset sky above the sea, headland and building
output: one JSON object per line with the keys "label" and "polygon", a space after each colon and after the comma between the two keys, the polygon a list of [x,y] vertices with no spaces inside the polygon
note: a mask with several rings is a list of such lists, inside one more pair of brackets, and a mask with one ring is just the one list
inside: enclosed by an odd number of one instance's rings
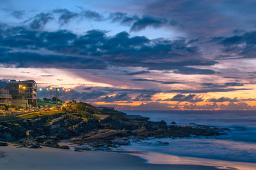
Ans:
{"label": "cloudy sunset sky above the sea, headland and building", "polygon": [[[256,110],[256,1],[0,1],[0,79],[118,110]],[[60,90],[60,98],[68,94]]]}

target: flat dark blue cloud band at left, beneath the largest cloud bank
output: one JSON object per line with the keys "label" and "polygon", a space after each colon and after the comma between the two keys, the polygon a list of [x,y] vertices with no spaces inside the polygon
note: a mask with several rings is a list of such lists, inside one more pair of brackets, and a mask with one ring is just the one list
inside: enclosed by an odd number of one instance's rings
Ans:
{"label": "flat dark blue cloud band at left, beneath the largest cloud bank", "polygon": [[[65,55],[44,55],[30,52],[10,52],[0,56],[0,63],[15,67],[56,67],[63,69],[106,69],[107,65],[97,59],[70,57]],[[12,59],[12,60],[10,60]]]}

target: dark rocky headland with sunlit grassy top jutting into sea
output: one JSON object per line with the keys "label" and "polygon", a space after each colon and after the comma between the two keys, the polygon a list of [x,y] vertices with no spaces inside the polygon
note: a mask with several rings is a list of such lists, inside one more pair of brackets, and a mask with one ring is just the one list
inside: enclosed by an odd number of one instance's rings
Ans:
{"label": "dark rocky headland with sunlit grassy top jutting into sea", "polygon": [[[227,130],[207,125],[177,125],[175,122],[168,125],[163,120],[152,122],[147,117],[98,110],[90,104],[79,103],[63,113],[0,122],[0,141],[2,146],[9,142],[18,147],[68,149],[67,145],[60,145],[65,140],[76,145],[77,151],[111,151],[141,139],[219,136]],[[29,136],[26,136],[27,131]]]}

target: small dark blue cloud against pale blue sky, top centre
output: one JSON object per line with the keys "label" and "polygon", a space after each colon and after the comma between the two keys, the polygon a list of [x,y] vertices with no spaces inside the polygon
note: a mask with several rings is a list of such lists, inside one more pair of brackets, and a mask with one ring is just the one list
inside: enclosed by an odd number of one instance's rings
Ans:
{"label": "small dark blue cloud against pale blue sky, top centre", "polygon": [[150,16],[143,16],[140,18],[140,20],[137,20],[134,22],[131,26],[130,31],[141,31],[143,29],[146,29],[147,27],[154,27],[158,28],[161,27],[163,24],[167,22],[164,18],[154,18]]}

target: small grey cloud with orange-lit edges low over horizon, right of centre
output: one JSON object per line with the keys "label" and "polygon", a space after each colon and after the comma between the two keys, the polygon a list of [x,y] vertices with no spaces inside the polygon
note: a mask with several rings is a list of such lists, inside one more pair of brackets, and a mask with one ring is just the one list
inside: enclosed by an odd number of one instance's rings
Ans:
{"label": "small grey cloud with orange-lit edges low over horizon, right of centre", "polygon": [[188,96],[184,94],[177,94],[176,96],[172,97],[172,99],[165,99],[163,101],[179,101],[179,102],[184,102],[188,101],[190,103],[196,103],[200,101],[204,101],[202,97],[198,97],[195,94],[189,94]]}

